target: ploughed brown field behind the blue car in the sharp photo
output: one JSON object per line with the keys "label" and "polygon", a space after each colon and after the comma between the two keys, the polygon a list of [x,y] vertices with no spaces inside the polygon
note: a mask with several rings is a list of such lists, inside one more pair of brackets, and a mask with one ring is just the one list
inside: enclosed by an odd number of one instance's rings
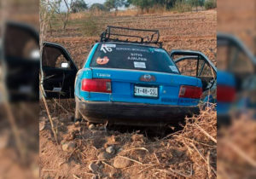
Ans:
{"label": "ploughed brown field behind the blue car in the sharp photo", "polygon": [[[92,18],[92,20],[94,20]],[[183,14],[143,14],[138,16],[96,17],[98,34],[95,37],[83,35],[83,19],[79,19],[67,31],[61,26],[48,33],[46,40],[60,43],[70,52],[73,60],[81,67],[90,52],[90,47],[99,40],[101,32],[107,26],[124,26],[131,28],[160,30],[160,41],[167,51],[172,49],[199,50],[216,64],[216,10],[188,12]],[[86,30],[84,30],[86,32]]]}

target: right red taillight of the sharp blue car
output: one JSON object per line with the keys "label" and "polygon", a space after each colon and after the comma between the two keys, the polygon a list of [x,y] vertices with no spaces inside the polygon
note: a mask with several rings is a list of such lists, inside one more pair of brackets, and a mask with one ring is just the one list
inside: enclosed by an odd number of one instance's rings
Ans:
{"label": "right red taillight of the sharp blue car", "polygon": [[200,99],[201,94],[202,89],[200,87],[182,85],[179,89],[178,97]]}

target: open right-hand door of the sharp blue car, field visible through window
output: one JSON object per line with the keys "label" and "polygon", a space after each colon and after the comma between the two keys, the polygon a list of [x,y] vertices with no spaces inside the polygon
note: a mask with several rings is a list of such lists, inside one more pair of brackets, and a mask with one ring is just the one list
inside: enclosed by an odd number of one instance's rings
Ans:
{"label": "open right-hand door of the sharp blue car, field visible through window", "polygon": [[172,60],[182,75],[200,78],[203,91],[216,86],[217,68],[199,51],[172,50]]}

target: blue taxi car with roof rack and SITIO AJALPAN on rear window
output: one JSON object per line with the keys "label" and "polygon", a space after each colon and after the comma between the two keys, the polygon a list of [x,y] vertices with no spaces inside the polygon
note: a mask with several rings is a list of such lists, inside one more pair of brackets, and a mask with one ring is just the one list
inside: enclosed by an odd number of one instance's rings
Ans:
{"label": "blue taxi car with roof rack and SITIO AJALPAN on rear window", "polygon": [[[128,36],[139,41],[121,40],[113,36],[127,35],[113,33],[114,29],[153,35]],[[206,72],[201,75],[209,61],[200,52],[176,50],[170,55],[158,39],[158,31],[108,26],[76,73],[75,118],[83,117],[90,123],[149,126],[177,124],[185,116],[199,113],[201,95],[216,79],[214,74],[208,78]],[[187,58],[175,59],[176,55]],[[183,75],[175,60],[197,62],[195,75]],[[70,67],[70,61],[60,66]],[[55,90],[60,88],[56,86]]]}

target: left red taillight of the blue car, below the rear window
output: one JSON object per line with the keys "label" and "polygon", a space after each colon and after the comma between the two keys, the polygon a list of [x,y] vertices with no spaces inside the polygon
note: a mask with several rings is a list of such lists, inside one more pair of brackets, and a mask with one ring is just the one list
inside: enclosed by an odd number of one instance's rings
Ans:
{"label": "left red taillight of the blue car, below the rear window", "polygon": [[110,79],[83,79],[81,90],[88,92],[111,93]]}

